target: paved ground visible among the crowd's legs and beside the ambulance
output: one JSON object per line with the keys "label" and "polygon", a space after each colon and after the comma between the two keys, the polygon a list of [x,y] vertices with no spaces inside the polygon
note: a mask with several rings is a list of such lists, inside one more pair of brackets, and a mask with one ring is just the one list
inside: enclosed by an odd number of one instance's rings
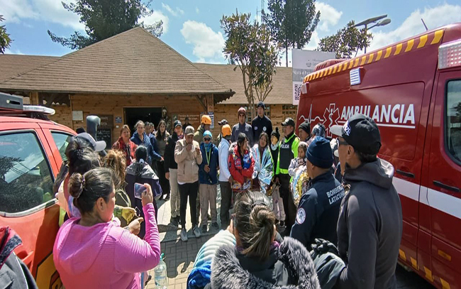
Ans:
{"label": "paved ground visible among the crowd's legs and beside the ambulance", "polygon": [[[218,186],[218,212],[220,209],[221,193]],[[194,267],[195,256],[201,246],[208,241],[217,231],[209,231],[196,239],[191,233],[191,222],[189,205],[187,209],[187,229],[189,241],[182,242],[179,239],[179,229],[170,224],[170,202],[157,202],[159,206],[158,223],[160,230],[160,240],[162,241],[162,253],[165,253],[165,263],[167,263],[168,289],[186,289],[187,276]],[[219,216],[219,213],[218,213]],[[219,218],[218,218],[219,219]],[[210,222],[209,222],[210,225]],[[152,278],[154,272],[151,271]],[[397,266],[397,288],[399,289],[433,289],[433,286],[423,280],[416,273],[405,271],[401,266]],[[147,289],[155,289],[154,281],[151,280]]]}

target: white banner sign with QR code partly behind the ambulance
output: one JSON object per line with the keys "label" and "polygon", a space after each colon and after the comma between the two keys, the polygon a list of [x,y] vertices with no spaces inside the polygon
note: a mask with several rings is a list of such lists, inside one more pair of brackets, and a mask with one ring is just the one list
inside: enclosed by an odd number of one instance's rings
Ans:
{"label": "white banner sign with QR code partly behind the ambulance", "polygon": [[301,85],[304,77],[313,72],[318,63],[328,59],[335,59],[336,53],[294,49],[291,51],[291,63],[293,64],[293,104],[299,104]]}

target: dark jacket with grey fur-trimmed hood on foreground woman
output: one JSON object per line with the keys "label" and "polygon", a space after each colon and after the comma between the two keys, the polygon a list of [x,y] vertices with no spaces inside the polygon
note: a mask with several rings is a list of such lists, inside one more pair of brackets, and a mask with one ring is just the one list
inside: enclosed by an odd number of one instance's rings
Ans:
{"label": "dark jacket with grey fur-trimmed hood on foreground woman", "polygon": [[210,284],[206,288],[320,289],[309,252],[289,237],[271,250],[267,261],[245,257],[235,246],[222,246],[211,264]]}

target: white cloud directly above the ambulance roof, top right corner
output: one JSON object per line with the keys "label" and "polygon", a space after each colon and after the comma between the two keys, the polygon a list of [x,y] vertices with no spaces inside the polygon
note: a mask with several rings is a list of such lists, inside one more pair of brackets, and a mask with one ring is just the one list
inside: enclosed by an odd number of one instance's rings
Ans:
{"label": "white cloud directly above the ambulance roof, top right corner", "polygon": [[423,12],[417,9],[401,23],[401,26],[393,31],[382,32],[372,30],[373,40],[368,50],[371,51],[381,48],[391,43],[404,40],[405,38],[415,36],[418,33],[423,33],[426,31],[426,28],[424,28],[421,18],[426,22],[429,29],[460,22],[461,6],[443,4],[433,8],[425,8]]}

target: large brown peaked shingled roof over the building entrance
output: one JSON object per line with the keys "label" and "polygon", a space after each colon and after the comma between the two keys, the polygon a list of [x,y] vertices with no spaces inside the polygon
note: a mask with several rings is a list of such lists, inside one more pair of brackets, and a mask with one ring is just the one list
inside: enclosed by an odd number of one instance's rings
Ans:
{"label": "large brown peaked shingled roof over the building entrance", "polygon": [[[3,75],[0,78],[4,78]],[[233,94],[230,88],[140,27],[0,81],[0,89],[98,94],[215,94],[215,102]]]}

